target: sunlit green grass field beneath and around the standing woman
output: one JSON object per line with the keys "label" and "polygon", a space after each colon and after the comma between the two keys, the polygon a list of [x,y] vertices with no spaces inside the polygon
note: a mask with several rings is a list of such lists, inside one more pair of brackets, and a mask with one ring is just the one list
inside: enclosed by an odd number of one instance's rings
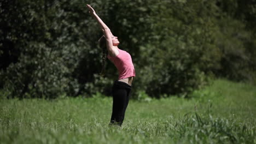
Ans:
{"label": "sunlit green grass field beneath and around the standing woman", "polygon": [[256,87],[216,80],[192,99],[131,100],[109,127],[112,98],[0,99],[0,143],[256,143]]}

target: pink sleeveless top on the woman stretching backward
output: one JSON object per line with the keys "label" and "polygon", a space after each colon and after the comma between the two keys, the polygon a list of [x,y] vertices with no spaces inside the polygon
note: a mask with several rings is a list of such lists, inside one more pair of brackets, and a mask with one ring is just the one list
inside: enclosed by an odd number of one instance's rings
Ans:
{"label": "pink sleeveless top on the woman stretching backward", "polygon": [[125,79],[127,77],[135,76],[135,69],[132,63],[131,55],[123,50],[119,50],[119,54],[115,57],[109,56],[108,59],[114,63],[118,69],[118,79]]}

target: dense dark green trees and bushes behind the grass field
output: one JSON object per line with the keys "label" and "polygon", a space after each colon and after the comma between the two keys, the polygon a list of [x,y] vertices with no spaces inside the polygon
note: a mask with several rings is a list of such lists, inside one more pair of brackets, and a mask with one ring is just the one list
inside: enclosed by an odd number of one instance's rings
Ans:
{"label": "dense dark green trees and bushes behind the grass field", "polygon": [[[255,1],[87,1],[131,53],[133,97],[187,96],[211,76],[255,82]],[[102,33],[83,1],[0,2],[0,88],[8,97],[110,94]]]}

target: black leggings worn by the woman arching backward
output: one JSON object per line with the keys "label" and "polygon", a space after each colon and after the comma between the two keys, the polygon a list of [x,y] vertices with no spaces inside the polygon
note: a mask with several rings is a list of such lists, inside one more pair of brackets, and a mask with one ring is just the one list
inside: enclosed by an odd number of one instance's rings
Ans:
{"label": "black leggings worn by the woman arching backward", "polygon": [[130,85],[121,81],[114,82],[112,87],[113,109],[110,125],[122,125],[125,117],[125,110],[129,103],[130,94]]}

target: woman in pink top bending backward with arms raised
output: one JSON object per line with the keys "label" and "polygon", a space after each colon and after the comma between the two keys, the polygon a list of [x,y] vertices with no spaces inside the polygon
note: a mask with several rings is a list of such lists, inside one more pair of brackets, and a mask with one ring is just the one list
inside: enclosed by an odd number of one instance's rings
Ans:
{"label": "woman in pink top bending backward with arms raised", "polygon": [[125,110],[129,103],[131,84],[133,77],[135,77],[135,69],[133,67],[130,54],[118,49],[118,37],[115,37],[111,33],[107,25],[105,25],[100,17],[98,17],[95,10],[89,4],[87,4],[87,7],[89,9],[89,13],[97,20],[104,34],[99,41],[100,43],[102,43],[102,41],[106,43],[105,45],[108,51],[107,57],[118,69],[119,77],[112,87],[113,109],[110,125],[114,124],[121,126],[124,121]]}

